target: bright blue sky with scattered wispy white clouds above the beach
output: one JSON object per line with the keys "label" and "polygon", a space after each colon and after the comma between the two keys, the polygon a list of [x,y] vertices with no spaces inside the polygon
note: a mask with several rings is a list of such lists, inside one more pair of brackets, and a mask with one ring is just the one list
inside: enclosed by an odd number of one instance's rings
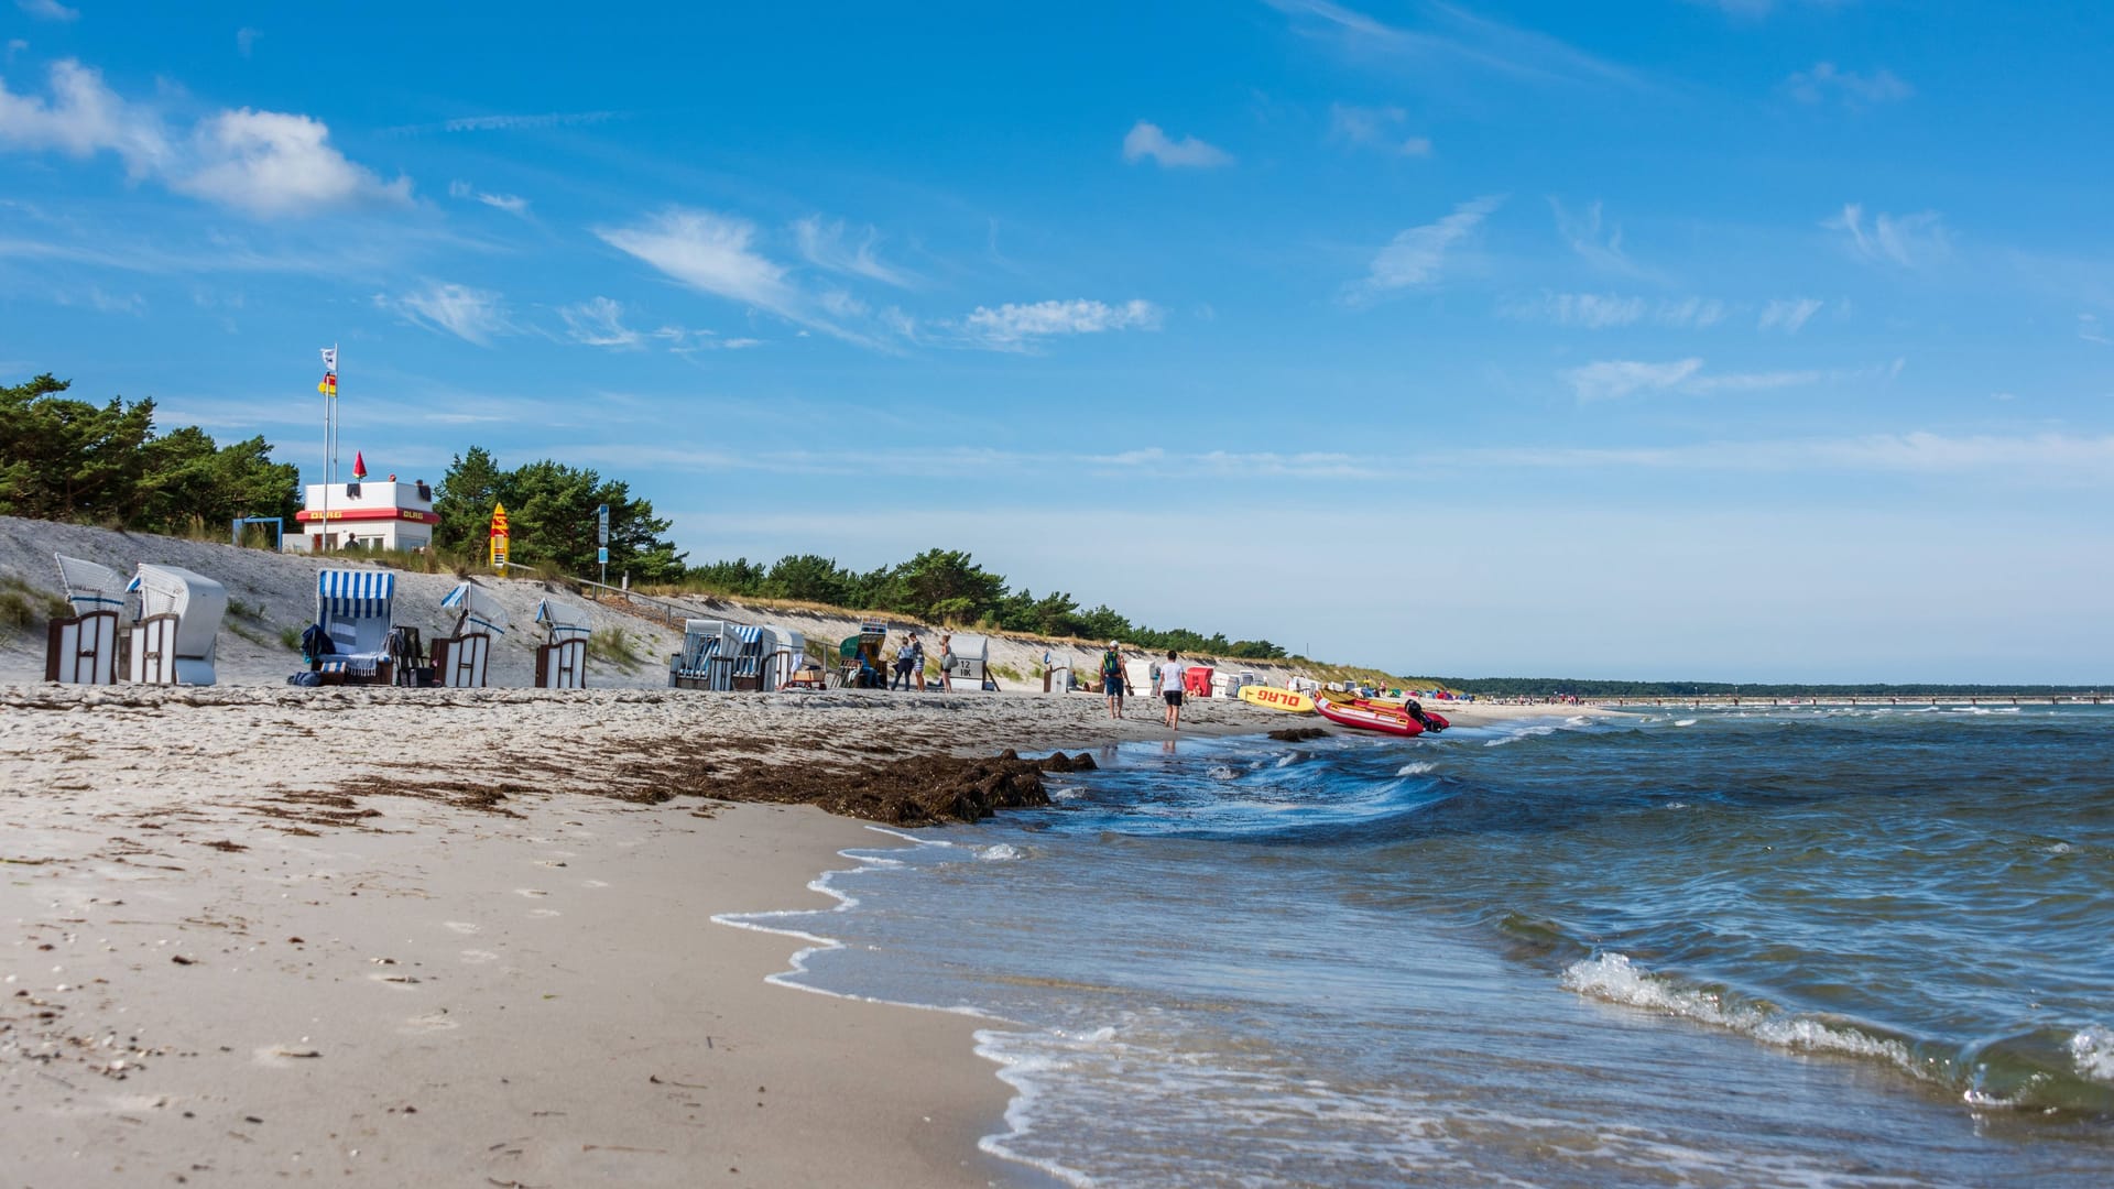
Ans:
{"label": "bright blue sky with scattered wispy white clouds above the beach", "polygon": [[0,0],[0,377],[1399,671],[2103,681],[2097,6]]}

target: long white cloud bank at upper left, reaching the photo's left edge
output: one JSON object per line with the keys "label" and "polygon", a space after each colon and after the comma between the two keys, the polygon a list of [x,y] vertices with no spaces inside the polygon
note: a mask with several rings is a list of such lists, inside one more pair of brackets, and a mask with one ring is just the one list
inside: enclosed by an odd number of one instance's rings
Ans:
{"label": "long white cloud bank at upper left, reaching the photo's left edge", "polygon": [[171,142],[159,112],[125,102],[72,59],[53,63],[49,102],[0,83],[0,146],[70,157],[110,150],[133,180],[159,178],[175,193],[258,216],[410,201],[408,178],[383,182],[353,165],[330,146],[321,121],[222,110],[199,121],[188,142]]}

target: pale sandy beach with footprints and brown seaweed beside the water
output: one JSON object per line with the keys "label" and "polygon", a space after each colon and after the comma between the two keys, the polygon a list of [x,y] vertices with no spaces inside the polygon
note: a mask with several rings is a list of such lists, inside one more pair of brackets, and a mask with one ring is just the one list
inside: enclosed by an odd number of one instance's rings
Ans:
{"label": "pale sandy beach with footprints and brown seaweed beside the water", "polygon": [[1021,1183],[977,1020],[772,986],[803,941],[712,922],[894,840],[731,802],[1165,734],[1093,696],[0,688],[17,1183]]}

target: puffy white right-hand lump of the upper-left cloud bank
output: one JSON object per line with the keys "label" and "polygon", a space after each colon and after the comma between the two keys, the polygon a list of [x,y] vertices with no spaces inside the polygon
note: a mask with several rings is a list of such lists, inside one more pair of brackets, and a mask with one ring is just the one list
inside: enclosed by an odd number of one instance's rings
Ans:
{"label": "puffy white right-hand lump of the upper-left cloud bank", "polygon": [[241,108],[203,121],[192,140],[199,167],[169,188],[249,214],[410,201],[410,178],[383,182],[353,165],[309,116]]}

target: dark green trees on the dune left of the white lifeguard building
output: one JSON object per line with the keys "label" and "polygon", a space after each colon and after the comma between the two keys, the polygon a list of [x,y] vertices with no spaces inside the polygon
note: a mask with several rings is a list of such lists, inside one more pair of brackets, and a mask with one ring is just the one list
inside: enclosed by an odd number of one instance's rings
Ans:
{"label": "dark green trees on the dune left of the white lifeguard building", "polygon": [[298,470],[264,438],[156,434],[152,400],[91,404],[68,387],[51,372],[0,385],[0,514],[186,533],[300,510]]}

